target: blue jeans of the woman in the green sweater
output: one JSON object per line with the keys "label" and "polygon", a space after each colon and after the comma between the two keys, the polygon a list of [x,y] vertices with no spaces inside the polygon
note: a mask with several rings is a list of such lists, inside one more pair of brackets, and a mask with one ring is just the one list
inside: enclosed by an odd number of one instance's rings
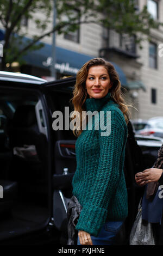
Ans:
{"label": "blue jeans of the woman in the green sweater", "polygon": [[[113,245],[115,237],[122,227],[123,221],[108,221],[101,228],[98,236],[91,235],[93,245]],[[78,236],[78,245],[79,236]]]}

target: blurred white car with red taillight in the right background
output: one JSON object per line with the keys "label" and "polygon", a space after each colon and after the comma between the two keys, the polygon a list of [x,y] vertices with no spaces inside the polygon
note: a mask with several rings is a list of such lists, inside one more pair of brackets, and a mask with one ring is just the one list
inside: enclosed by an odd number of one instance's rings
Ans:
{"label": "blurred white car with red taillight in the right background", "polygon": [[163,117],[148,120],[137,119],[132,123],[136,134],[163,138]]}

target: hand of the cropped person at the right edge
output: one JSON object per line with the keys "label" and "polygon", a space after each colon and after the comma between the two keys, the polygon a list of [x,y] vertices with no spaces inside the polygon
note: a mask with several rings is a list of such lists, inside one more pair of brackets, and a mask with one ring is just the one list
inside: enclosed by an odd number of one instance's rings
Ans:
{"label": "hand of the cropped person at the right edge", "polygon": [[143,170],[141,173],[136,173],[135,181],[137,185],[143,186],[149,182],[158,181],[161,177],[162,169],[150,168]]}

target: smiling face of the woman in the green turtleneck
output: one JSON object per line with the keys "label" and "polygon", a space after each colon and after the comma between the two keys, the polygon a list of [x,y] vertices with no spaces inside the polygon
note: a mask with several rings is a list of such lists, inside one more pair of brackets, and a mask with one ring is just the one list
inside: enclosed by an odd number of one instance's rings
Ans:
{"label": "smiling face of the woman in the green turtleneck", "polygon": [[90,98],[101,99],[111,87],[108,70],[104,66],[91,66],[86,78],[86,90]]}

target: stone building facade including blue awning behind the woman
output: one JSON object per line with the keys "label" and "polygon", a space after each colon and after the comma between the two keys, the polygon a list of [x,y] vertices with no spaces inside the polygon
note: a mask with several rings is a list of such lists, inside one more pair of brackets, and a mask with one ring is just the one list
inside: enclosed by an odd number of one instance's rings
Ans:
{"label": "stone building facade including blue awning behind the woman", "polygon": [[[154,19],[163,22],[163,0],[136,1],[141,10],[147,4],[149,13]],[[41,18],[43,13],[37,13]],[[48,25],[53,25],[53,17]],[[24,23],[29,38],[36,31],[33,21]],[[30,75],[51,77],[53,36],[43,38],[45,46],[38,51],[24,56],[27,64],[21,72]],[[103,57],[115,65],[120,75],[123,93],[130,107],[131,118],[148,119],[163,116],[163,26],[151,31],[151,41],[144,40],[143,48],[135,44],[135,38],[120,35],[115,31],[104,29],[96,24],[82,24],[79,30],[55,36],[55,70],[57,79],[76,75],[79,68],[89,59]],[[162,46],[163,48],[163,46]],[[162,51],[163,53],[163,51]]]}

